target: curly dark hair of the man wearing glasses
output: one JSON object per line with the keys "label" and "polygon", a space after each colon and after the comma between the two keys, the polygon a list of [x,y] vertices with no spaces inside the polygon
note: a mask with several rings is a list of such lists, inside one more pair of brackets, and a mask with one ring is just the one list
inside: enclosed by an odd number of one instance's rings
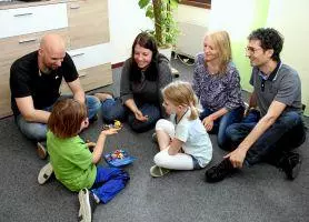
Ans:
{"label": "curly dark hair of the man wearing glasses", "polygon": [[272,28],[260,28],[252,31],[248,40],[260,40],[261,48],[263,50],[272,49],[273,54],[271,57],[275,61],[280,61],[280,52],[283,47],[283,37],[282,34]]}

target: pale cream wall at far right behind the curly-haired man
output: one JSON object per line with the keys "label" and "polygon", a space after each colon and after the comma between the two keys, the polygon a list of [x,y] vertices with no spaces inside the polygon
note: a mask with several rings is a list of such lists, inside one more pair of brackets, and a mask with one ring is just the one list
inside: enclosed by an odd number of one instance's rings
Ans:
{"label": "pale cream wall at far right behind the curly-haired man", "polygon": [[270,0],[267,27],[272,27],[285,37],[281,59],[296,69],[301,79],[302,103],[309,114],[309,1]]}

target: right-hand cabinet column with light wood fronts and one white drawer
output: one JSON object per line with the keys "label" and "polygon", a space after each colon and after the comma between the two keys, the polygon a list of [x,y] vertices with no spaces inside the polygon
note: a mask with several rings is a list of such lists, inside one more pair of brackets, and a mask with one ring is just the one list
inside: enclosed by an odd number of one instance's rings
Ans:
{"label": "right-hand cabinet column with light wood fronts and one white drawer", "polygon": [[[88,91],[112,83],[108,0],[68,2],[70,51]],[[69,92],[62,84],[62,92]]]}

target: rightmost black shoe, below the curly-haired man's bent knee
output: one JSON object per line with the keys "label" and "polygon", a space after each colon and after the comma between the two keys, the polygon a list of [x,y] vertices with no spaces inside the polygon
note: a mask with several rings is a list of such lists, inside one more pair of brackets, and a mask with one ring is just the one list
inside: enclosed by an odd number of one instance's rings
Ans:
{"label": "rightmost black shoe, below the curly-haired man's bent knee", "polygon": [[279,168],[281,168],[289,180],[296,179],[300,171],[301,158],[298,153],[288,152],[280,160]]}

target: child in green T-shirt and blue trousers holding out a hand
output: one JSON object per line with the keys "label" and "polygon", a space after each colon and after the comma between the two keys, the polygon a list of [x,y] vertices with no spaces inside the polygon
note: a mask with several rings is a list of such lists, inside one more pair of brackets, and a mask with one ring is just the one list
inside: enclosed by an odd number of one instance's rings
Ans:
{"label": "child in green T-shirt and blue trousers holding out a hand", "polygon": [[96,167],[101,160],[107,135],[117,133],[117,130],[101,131],[91,153],[78,135],[88,124],[84,104],[64,99],[54,104],[47,133],[56,178],[69,190],[79,191],[79,216],[82,221],[91,221],[96,204],[110,201],[129,180],[127,172],[120,169]]}

